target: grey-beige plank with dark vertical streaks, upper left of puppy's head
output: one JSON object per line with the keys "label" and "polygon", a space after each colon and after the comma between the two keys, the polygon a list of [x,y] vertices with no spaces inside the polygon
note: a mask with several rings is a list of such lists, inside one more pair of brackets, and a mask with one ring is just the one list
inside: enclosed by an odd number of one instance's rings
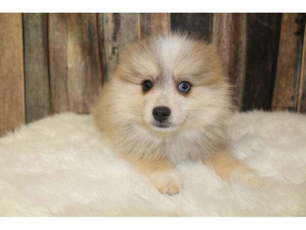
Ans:
{"label": "grey-beige plank with dark vertical streaks, upper left of puppy's head", "polygon": [[104,74],[106,80],[114,70],[118,55],[124,45],[140,37],[140,15],[138,13],[100,14],[104,40]]}

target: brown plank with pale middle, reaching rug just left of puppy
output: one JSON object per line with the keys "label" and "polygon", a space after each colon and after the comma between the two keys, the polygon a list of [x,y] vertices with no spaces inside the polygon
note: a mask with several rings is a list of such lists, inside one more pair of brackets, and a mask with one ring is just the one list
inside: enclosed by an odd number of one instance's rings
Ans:
{"label": "brown plank with pale middle, reaching rug just left of puppy", "polygon": [[67,14],[67,89],[70,110],[88,113],[102,82],[94,13]]}

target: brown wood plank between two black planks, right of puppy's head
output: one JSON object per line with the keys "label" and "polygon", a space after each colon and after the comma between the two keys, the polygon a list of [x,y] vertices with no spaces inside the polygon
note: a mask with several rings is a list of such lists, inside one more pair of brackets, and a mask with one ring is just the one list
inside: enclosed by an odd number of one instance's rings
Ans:
{"label": "brown wood plank between two black planks, right of puppy's head", "polygon": [[234,85],[234,103],[240,109],[246,65],[246,14],[215,13],[212,41],[223,61],[225,74]]}

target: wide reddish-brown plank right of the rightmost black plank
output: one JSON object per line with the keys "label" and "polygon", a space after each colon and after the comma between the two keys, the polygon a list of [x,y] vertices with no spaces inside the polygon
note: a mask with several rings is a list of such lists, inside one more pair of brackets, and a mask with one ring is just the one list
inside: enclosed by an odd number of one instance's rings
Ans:
{"label": "wide reddish-brown plank right of the rightmost black plank", "polygon": [[279,41],[272,110],[297,110],[303,33],[301,14],[284,13]]}

